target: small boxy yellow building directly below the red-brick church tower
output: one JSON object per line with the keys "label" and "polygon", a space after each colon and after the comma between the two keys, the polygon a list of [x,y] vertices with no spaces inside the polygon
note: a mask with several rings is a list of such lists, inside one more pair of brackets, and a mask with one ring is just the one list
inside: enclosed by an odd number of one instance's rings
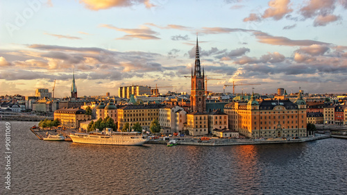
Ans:
{"label": "small boxy yellow building directly below the red-brick church tower", "polygon": [[208,134],[208,114],[198,111],[187,114],[187,130],[193,136]]}

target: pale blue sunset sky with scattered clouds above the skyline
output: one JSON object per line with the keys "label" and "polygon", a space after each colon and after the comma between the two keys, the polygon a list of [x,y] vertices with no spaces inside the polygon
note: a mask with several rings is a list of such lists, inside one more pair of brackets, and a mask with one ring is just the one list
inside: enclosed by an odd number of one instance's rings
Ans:
{"label": "pale blue sunset sky with scattered clouds above the skyline", "polygon": [[70,96],[73,72],[78,96],[128,85],[190,94],[197,36],[209,91],[346,94],[346,10],[347,0],[1,0],[0,95],[51,92],[56,80],[56,97]]}

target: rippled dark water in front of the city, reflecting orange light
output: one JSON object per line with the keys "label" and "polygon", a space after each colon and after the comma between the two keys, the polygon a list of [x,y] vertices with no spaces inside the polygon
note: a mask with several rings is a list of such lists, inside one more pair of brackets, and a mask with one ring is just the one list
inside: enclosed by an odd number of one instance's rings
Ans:
{"label": "rippled dark water in front of the city, reflecting orange light", "polygon": [[[10,122],[11,190],[0,194],[346,194],[347,139],[246,146],[45,142]],[[5,140],[5,122],[0,122]],[[1,141],[4,155],[4,141]]]}

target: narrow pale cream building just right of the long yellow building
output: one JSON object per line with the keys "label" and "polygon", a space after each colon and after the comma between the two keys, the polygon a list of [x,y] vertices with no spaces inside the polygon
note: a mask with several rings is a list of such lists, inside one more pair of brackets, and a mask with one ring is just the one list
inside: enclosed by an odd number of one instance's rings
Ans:
{"label": "narrow pale cream building just right of the long yellow building", "polygon": [[176,112],[183,110],[178,105],[165,105],[159,109],[159,124],[161,133],[175,133],[176,132]]}

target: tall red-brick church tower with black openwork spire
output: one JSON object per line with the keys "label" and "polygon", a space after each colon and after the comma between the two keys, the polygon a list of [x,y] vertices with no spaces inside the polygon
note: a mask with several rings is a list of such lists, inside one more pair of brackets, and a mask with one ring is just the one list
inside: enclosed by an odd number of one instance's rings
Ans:
{"label": "tall red-brick church tower with black openwork spire", "polygon": [[194,71],[192,69],[192,90],[190,94],[190,109],[192,112],[206,112],[205,71],[201,74],[200,58],[198,53],[198,37],[196,37],[196,56]]}

